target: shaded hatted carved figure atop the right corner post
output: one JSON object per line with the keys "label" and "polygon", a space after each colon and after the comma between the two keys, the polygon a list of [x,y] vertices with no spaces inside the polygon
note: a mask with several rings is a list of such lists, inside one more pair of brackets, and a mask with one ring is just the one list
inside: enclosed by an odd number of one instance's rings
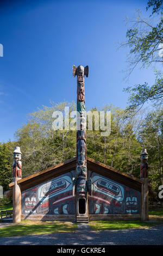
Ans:
{"label": "shaded hatted carved figure atop the right corner post", "polygon": [[145,149],[145,148],[142,149],[142,152],[140,154],[140,159],[141,159],[140,178],[148,178],[148,163],[147,163],[148,153],[147,153],[147,149]]}

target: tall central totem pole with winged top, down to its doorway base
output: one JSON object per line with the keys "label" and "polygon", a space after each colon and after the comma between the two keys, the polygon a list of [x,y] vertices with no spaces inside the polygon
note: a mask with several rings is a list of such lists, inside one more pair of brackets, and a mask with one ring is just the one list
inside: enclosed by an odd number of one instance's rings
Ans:
{"label": "tall central totem pole with winged top, down to its doorway base", "polygon": [[87,167],[86,167],[86,115],[84,75],[88,77],[89,67],[74,66],[73,77],[77,76],[77,167],[76,167],[76,216],[77,222],[88,221],[87,209]]}

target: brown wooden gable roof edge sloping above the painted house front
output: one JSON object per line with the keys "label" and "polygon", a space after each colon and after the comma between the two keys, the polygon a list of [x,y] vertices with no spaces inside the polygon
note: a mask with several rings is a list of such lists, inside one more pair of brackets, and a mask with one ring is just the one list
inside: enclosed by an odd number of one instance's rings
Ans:
{"label": "brown wooden gable roof edge sloping above the painted house front", "polygon": [[[20,185],[21,191],[27,190],[34,186],[37,186],[45,181],[51,180],[59,175],[70,172],[71,170],[76,169],[76,157],[73,157],[70,160],[59,163],[55,166],[49,167],[45,170],[41,170],[35,174],[29,175],[26,178],[17,181],[17,184]],[[107,166],[104,163],[93,160],[90,157],[87,157],[87,169],[92,172],[96,172],[99,175],[103,175],[106,178],[117,181],[123,185],[134,188],[135,190],[141,191],[141,186],[144,183],[143,180],[137,179],[136,177],[123,173],[120,170],[117,170],[113,167]],[[9,184],[9,187],[12,188],[14,182]],[[148,184],[149,195],[156,196],[156,193],[152,191],[152,185]]]}

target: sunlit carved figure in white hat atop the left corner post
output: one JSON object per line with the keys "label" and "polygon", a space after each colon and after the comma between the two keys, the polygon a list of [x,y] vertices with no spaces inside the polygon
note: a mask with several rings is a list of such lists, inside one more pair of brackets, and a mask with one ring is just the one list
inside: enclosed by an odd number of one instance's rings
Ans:
{"label": "sunlit carved figure in white hat atop the left corner post", "polygon": [[13,163],[13,178],[22,178],[22,153],[20,147],[16,147],[14,150],[14,163]]}

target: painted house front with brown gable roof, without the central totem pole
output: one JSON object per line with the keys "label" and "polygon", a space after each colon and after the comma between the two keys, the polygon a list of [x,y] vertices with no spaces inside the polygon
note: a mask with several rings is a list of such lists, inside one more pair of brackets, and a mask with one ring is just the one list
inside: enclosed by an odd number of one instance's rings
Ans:
{"label": "painted house front with brown gable roof, without the central totem pole", "polygon": [[[87,192],[87,202],[81,198],[77,205],[75,169],[76,157],[18,180],[21,220],[77,221],[77,216],[88,220],[142,220],[143,179],[87,157],[91,189]],[[9,186],[14,188],[14,182]],[[149,184],[148,192],[155,196]]]}

